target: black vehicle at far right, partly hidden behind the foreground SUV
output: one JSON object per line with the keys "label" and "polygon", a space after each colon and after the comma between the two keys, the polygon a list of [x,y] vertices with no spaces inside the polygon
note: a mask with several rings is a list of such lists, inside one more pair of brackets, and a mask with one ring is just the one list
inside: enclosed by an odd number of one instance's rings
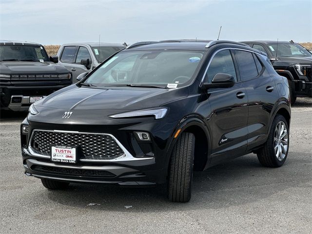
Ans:
{"label": "black vehicle at far right, partly hidden behind the foreground SUV", "polygon": [[265,52],[277,74],[289,82],[291,104],[297,97],[312,97],[312,54],[293,41],[244,41],[254,49]]}

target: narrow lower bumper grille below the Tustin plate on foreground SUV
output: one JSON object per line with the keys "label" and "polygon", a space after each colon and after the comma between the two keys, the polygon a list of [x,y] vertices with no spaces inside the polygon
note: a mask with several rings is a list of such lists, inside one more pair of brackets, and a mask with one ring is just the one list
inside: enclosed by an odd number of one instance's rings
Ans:
{"label": "narrow lower bumper grille below the Tustin plate on foreground SUV", "polygon": [[60,168],[60,167],[49,167],[33,165],[31,170],[40,173],[62,175],[62,176],[94,176],[94,177],[115,177],[113,173],[101,170],[85,170],[85,169],[75,169],[75,168]]}

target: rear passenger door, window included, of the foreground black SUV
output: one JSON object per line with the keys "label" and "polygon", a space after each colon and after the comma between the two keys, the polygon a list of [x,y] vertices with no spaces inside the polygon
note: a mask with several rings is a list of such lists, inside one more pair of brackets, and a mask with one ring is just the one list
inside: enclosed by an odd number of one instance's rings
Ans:
{"label": "rear passenger door, window included, of the foreground black SUV", "polygon": [[248,95],[248,149],[252,149],[266,140],[271,111],[278,93],[264,65],[265,56],[243,50],[235,50],[234,54]]}

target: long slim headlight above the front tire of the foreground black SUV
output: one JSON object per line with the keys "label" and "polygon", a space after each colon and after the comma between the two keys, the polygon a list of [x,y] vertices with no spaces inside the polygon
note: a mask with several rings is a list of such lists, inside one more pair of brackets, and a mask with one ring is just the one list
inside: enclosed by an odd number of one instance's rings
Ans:
{"label": "long slim headlight above the front tire of the foreground black SUV", "polygon": [[120,113],[116,115],[111,115],[111,118],[126,118],[126,117],[142,117],[142,116],[154,116],[155,119],[165,117],[168,108],[153,108],[153,109],[143,109],[138,111],[129,111],[125,113]]}

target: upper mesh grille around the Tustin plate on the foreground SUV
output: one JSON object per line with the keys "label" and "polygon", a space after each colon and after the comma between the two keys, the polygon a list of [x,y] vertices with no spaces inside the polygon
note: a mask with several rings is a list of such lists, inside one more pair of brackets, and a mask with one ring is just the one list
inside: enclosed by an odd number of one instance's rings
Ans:
{"label": "upper mesh grille around the Tustin plate on the foreground SUV", "polygon": [[79,159],[109,160],[124,155],[116,141],[108,135],[34,131],[31,147],[36,153],[50,156],[51,145],[78,146]]}

